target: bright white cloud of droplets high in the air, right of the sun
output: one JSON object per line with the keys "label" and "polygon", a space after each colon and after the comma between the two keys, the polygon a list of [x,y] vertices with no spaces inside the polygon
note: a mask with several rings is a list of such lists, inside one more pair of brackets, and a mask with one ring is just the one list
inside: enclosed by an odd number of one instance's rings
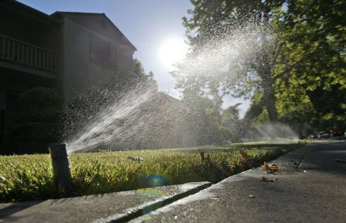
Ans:
{"label": "bright white cloud of droplets high in the air, right of the sun", "polygon": [[181,75],[235,83],[242,78],[240,75],[244,76],[244,71],[252,69],[255,61],[261,62],[261,55],[268,50],[268,41],[261,38],[273,36],[270,29],[252,22],[220,30],[200,42],[179,64]]}

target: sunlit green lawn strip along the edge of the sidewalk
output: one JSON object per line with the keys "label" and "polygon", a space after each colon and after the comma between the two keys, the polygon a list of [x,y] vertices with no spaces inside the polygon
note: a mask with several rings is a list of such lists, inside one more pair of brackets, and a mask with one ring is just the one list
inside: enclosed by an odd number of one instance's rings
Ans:
{"label": "sunlit green lawn strip along the edge of the sidewalk", "polygon": [[[71,195],[100,194],[194,181],[216,183],[298,146],[275,144],[272,148],[245,148],[250,163],[245,162],[240,155],[239,145],[71,154]],[[201,152],[204,152],[203,158]],[[127,158],[137,155],[144,161]],[[1,201],[42,200],[63,196],[54,188],[48,154],[0,156]]]}

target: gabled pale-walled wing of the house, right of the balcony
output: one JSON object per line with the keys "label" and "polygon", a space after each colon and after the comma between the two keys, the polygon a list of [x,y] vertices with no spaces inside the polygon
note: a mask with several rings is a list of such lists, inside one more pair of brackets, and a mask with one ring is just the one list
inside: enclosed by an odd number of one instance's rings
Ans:
{"label": "gabled pale-walled wing of the house, right of the balcony", "polygon": [[63,94],[121,79],[136,48],[104,13],[55,12],[62,24]]}

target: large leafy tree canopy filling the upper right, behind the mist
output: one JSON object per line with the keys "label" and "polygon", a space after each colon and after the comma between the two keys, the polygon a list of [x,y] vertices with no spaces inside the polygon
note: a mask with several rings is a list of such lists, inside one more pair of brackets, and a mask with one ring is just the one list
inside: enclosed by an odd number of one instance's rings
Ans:
{"label": "large leafy tree canopy filling the upper right, behind the mist", "polygon": [[[210,76],[185,75],[185,67],[177,65],[173,75],[184,95],[191,91],[209,94],[218,104],[226,94],[250,97],[248,120],[279,120],[300,134],[345,129],[345,1],[191,0],[191,3],[194,8],[188,10],[190,18],[182,19],[191,49],[188,58],[197,60],[196,55],[206,45],[212,49],[222,41],[232,45],[225,48],[231,51],[249,38],[251,41],[245,41],[240,49],[248,45],[251,50],[247,54],[238,50],[235,59],[231,54],[216,52],[215,58],[226,57],[222,59],[228,59],[229,64],[226,70],[225,67],[216,70],[217,66],[207,69]],[[234,41],[227,42],[227,38]],[[209,63],[212,67],[212,62]]]}

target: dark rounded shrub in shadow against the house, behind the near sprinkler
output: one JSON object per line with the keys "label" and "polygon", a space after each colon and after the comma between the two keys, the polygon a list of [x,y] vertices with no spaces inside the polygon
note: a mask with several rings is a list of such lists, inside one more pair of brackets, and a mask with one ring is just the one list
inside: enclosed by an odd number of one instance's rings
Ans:
{"label": "dark rounded shrub in shadow against the house, behind the near sprinkler", "polygon": [[61,139],[62,97],[54,89],[34,87],[20,93],[18,100],[23,113],[19,116],[20,123],[12,126],[17,136],[16,142],[24,148],[18,152],[47,152],[49,143]]}

